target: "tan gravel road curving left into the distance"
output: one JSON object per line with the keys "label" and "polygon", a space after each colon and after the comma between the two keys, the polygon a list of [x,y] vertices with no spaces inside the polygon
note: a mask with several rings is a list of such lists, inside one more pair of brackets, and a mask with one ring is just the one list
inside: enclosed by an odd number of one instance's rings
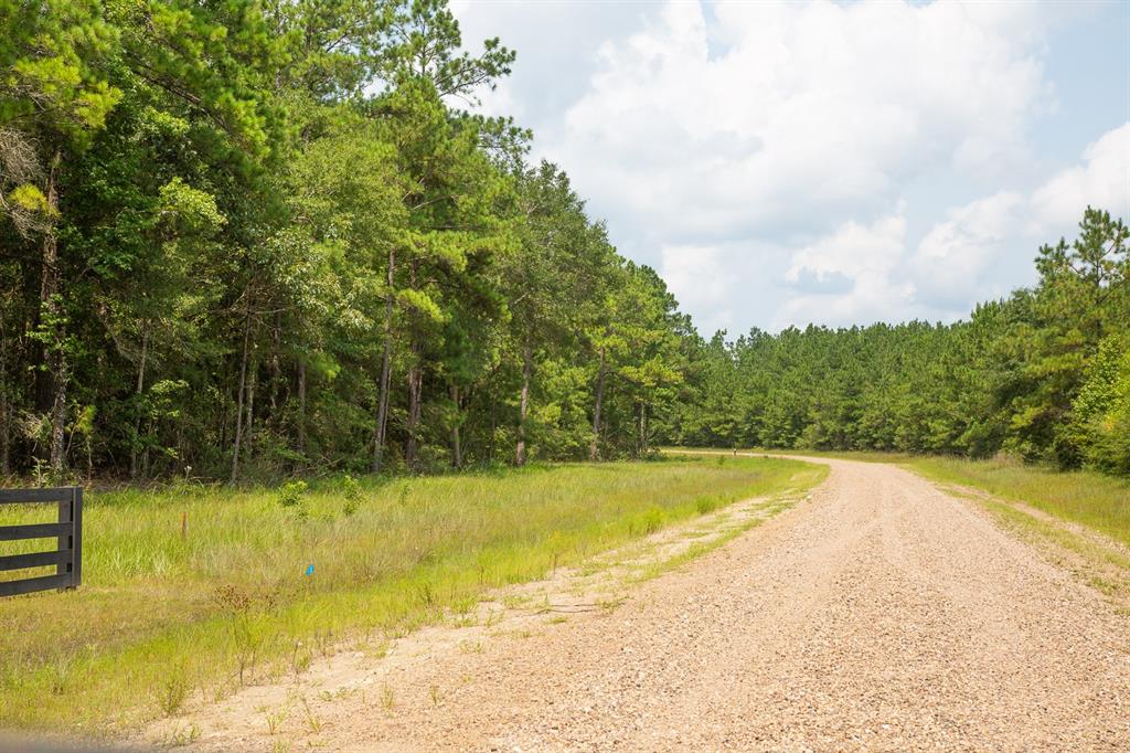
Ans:
{"label": "tan gravel road curving left into the distance", "polygon": [[418,663],[392,713],[376,689],[331,704],[320,743],[1130,750],[1125,616],[972,503],[828,462],[810,501],[616,609]]}

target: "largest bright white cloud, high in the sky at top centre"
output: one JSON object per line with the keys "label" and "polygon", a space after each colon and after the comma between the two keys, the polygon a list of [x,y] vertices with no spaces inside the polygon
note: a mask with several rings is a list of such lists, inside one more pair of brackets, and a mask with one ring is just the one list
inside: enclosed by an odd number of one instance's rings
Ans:
{"label": "largest bright white cloud, high in the sky at top centre", "polygon": [[[938,165],[1017,170],[1051,102],[1029,6],[670,2],[601,51],[544,145],[614,215],[667,241],[826,230]],[[716,41],[716,43],[715,43]],[[688,210],[693,208],[693,210]]]}

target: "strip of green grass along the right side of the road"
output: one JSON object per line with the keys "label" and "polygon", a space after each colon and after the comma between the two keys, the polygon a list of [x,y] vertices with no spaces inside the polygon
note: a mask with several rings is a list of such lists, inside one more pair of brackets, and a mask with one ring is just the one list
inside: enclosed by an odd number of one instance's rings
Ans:
{"label": "strip of green grass along the right side of the road", "polygon": [[1010,460],[915,458],[904,465],[933,481],[1023,502],[1130,546],[1130,481],[1089,471],[1060,473]]}

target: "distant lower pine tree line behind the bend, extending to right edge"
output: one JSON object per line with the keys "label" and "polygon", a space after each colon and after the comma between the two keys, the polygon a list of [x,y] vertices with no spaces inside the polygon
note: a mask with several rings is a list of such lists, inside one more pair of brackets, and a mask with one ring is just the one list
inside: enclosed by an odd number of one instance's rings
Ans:
{"label": "distant lower pine tree line behind the bend, extending to right edge", "polygon": [[671,441],[895,450],[1130,475],[1130,253],[1088,208],[1038,283],[967,321],[754,329],[699,345]]}

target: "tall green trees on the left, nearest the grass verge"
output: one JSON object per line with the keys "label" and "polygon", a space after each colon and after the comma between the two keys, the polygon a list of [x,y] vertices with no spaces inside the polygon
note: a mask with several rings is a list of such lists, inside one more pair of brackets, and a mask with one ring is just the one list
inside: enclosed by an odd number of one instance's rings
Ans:
{"label": "tall green trees on the left, nearest the grass verge", "polygon": [[445,2],[0,16],[5,470],[649,451],[693,332],[528,132],[461,109],[514,53]]}

